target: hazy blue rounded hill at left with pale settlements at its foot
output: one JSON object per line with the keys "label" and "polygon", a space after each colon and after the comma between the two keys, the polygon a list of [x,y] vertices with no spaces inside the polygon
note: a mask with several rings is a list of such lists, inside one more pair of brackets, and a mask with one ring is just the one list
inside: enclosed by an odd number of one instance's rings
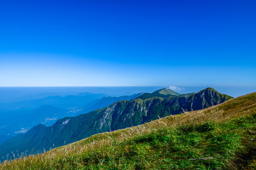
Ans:
{"label": "hazy blue rounded hill at left with pale settlements at its foot", "polygon": [[57,119],[68,116],[67,110],[53,106],[42,106],[36,110],[19,109],[0,112],[0,144],[11,136],[27,132],[39,123],[53,125]]}

